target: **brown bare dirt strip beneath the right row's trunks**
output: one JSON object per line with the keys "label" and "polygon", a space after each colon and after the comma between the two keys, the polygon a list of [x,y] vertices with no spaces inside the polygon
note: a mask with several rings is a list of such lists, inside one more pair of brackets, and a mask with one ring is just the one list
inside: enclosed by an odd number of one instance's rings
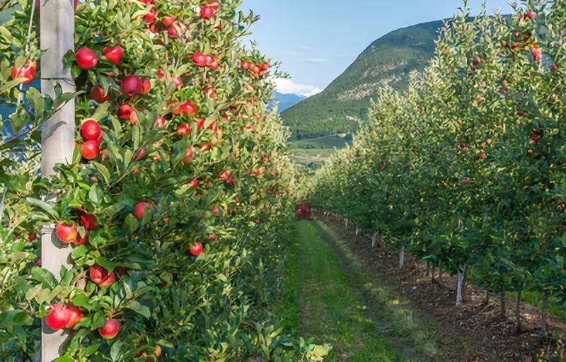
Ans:
{"label": "brown bare dirt strip beneath the right row's trunks", "polygon": [[[507,317],[502,317],[497,296],[493,295],[490,302],[485,303],[485,290],[468,284],[464,291],[465,303],[456,307],[454,277],[443,274],[439,281],[437,272],[437,280],[433,282],[426,266],[409,257],[400,270],[395,250],[372,247],[371,236],[362,233],[356,236],[354,227],[345,228],[340,216],[317,212],[316,218],[333,228],[341,238],[349,240],[352,251],[400,297],[438,320],[450,331],[449,335],[475,342],[475,353],[456,356],[457,352],[452,351],[444,361],[566,361],[565,351],[559,346],[566,324],[557,317],[548,317],[551,337],[544,339],[538,329],[538,308],[521,303],[522,331],[517,333],[513,298],[506,303]],[[562,356],[557,349],[562,349]]]}

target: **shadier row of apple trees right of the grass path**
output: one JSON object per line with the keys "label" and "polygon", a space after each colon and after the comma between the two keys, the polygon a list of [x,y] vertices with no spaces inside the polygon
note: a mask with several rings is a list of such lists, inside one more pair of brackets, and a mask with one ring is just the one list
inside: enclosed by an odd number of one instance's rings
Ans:
{"label": "shadier row of apple trees right of the grass path", "polygon": [[566,16],[545,3],[446,23],[429,66],[404,93],[381,88],[313,189],[460,283],[538,294],[544,329],[548,299],[566,301]]}

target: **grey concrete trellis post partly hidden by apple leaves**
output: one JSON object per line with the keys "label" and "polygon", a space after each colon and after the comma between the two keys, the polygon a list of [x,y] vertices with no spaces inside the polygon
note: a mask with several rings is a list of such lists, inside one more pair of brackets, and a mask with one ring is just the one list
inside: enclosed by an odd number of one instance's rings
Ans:
{"label": "grey concrete trellis post partly hidden by apple leaves", "polygon": [[[41,58],[41,91],[54,98],[54,84],[62,91],[74,92],[75,84],[69,69],[64,69],[63,56],[74,50],[74,4],[73,0],[42,0],[40,6],[41,49],[46,50]],[[42,127],[41,141],[42,175],[53,175],[54,165],[71,162],[74,150],[75,104],[70,100]],[[54,233],[53,226],[41,230],[42,267],[60,279],[61,267],[70,267],[71,247],[62,245]],[[67,336],[61,331],[53,332],[42,325],[41,361],[52,362],[61,355],[59,349]]]}

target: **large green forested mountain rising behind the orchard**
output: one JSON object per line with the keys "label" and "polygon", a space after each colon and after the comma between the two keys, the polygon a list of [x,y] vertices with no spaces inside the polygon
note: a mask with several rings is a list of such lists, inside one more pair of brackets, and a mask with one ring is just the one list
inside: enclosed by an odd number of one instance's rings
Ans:
{"label": "large green forested mountain rising behind the orchard", "polygon": [[410,71],[427,65],[442,25],[442,21],[413,25],[373,42],[322,93],[282,112],[284,124],[293,132],[292,139],[354,132],[357,121],[366,119],[381,81],[405,89]]}

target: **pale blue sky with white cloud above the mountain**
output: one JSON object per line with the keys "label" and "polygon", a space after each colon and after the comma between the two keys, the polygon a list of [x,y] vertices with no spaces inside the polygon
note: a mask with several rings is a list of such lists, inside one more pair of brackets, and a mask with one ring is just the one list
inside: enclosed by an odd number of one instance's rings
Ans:
{"label": "pale blue sky with white cloud above the mountain", "polygon": [[[487,0],[490,13],[507,0]],[[482,0],[470,0],[472,14]],[[450,18],[461,0],[243,0],[261,19],[252,38],[262,52],[282,62],[291,81],[283,93],[317,93],[349,66],[374,40],[405,26]]]}

